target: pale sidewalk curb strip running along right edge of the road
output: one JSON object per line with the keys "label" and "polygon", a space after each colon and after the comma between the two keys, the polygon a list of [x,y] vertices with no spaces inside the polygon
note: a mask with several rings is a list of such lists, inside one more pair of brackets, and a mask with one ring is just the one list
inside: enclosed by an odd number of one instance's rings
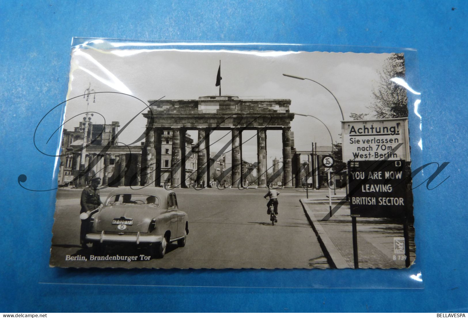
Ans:
{"label": "pale sidewalk curb strip running along right edge of the road", "polygon": [[309,221],[310,226],[317,236],[320,247],[322,248],[323,254],[327,259],[331,268],[350,268],[343,255],[338,251],[335,244],[331,241],[328,234],[322,228],[322,225],[319,224],[314,214],[310,209],[302,202],[302,199],[299,199],[302,208],[304,209],[304,214],[306,214],[307,221]]}

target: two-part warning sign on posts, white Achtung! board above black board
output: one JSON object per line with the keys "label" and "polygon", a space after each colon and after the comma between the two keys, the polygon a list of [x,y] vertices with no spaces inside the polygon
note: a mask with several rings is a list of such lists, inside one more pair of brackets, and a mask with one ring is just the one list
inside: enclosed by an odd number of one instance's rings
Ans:
{"label": "two-part warning sign on posts, white Achtung! board above black board", "polygon": [[[408,119],[342,121],[343,162],[348,165],[354,267],[359,267],[357,217],[403,221],[404,251],[409,267],[408,214],[413,206]],[[404,246],[404,247],[403,247]]]}

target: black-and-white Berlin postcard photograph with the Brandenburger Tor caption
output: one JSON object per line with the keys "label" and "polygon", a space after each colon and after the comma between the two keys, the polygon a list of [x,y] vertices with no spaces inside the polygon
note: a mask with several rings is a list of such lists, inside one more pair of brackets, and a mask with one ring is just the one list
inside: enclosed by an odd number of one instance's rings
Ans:
{"label": "black-and-white Berlin postcard photograph with the Brandenburger Tor caption", "polygon": [[415,261],[402,52],[114,46],[72,48],[50,266]]}

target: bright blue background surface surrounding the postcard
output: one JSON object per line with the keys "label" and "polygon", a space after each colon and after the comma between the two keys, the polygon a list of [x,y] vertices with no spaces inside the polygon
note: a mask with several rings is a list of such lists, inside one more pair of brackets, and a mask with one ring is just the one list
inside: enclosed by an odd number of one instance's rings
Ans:
{"label": "bright blue background surface surrounding the postcard", "polygon": [[[453,9],[452,9],[453,8]],[[467,311],[467,4],[462,1],[59,1],[0,4],[0,311]],[[422,161],[450,162],[434,190],[415,191],[417,261],[424,289],[226,288],[116,284],[151,271],[48,267],[54,158],[33,144],[39,120],[64,100],[72,37],[410,47],[418,51]],[[45,118],[56,127],[59,115]],[[41,133],[41,129],[38,130]],[[56,140],[57,141],[57,140]],[[55,141],[55,142],[56,142]],[[53,145],[51,145],[53,148]],[[436,182],[437,184],[437,182]],[[418,221],[418,219],[417,219]],[[51,273],[53,274],[51,276]],[[324,271],[362,280],[375,271]],[[117,280],[115,277],[125,276]],[[148,276],[146,276],[148,275]],[[301,286],[301,272],[161,271],[164,285]],[[84,280],[86,276],[88,280]],[[385,276],[389,280],[388,274]],[[191,283],[184,283],[187,280]],[[260,284],[265,280],[269,285]],[[56,282],[49,284],[39,282]],[[388,282],[382,282],[385,285]],[[154,280],[151,281],[154,284]],[[377,285],[373,282],[374,285]],[[349,284],[348,284],[349,285]],[[388,284],[387,284],[388,285]],[[275,295],[276,302],[269,301]],[[125,307],[116,304],[125,304]]]}

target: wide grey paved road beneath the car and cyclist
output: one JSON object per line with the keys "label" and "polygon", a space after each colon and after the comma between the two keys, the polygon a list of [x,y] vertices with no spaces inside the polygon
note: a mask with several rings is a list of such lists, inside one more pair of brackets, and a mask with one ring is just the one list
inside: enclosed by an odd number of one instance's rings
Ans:
{"label": "wide grey paved road beneath the car and cyclist", "polygon": [[[109,190],[101,191],[102,198]],[[80,190],[59,190],[53,227],[51,264],[66,267],[159,268],[327,268],[322,250],[299,199],[305,192],[280,190],[278,223],[266,214],[266,190],[176,189],[179,209],[189,214],[185,247],[169,244],[163,259],[142,261],[66,261],[66,255],[89,259],[79,245]],[[147,254],[120,246],[109,255]]]}

